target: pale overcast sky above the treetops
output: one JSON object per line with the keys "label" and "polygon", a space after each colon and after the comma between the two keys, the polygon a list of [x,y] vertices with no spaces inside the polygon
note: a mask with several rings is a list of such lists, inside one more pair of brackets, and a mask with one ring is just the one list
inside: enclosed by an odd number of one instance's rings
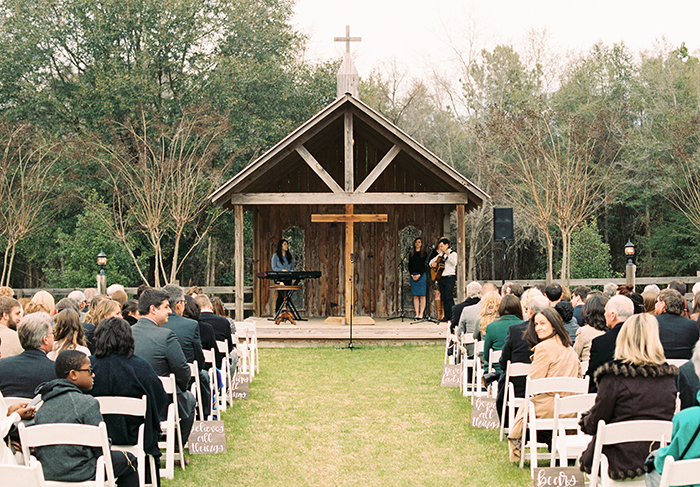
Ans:
{"label": "pale overcast sky above the treetops", "polygon": [[449,42],[465,45],[467,32],[479,48],[524,42],[531,29],[546,28],[550,45],[565,54],[593,44],[624,43],[634,53],[658,39],[700,52],[699,0],[297,0],[292,19],[309,36],[309,57],[342,56],[333,37],[362,37],[351,50],[360,76],[380,62],[397,62],[420,76],[428,65],[451,57]]}

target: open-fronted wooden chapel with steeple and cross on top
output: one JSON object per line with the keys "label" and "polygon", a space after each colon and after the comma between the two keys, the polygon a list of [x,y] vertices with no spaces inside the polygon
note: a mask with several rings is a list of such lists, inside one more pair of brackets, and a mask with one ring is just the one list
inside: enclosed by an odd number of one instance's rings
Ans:
{"label": "open-fronted wooden chapel with steeple and cross on top", "polygon": [[[359,38],[347,32],[336,40],[349,46]],[[321,271],[304,286],[309,317],[348,316],[352,300],[355,316],[395,315],[407,251],[399,248],[400,231],[413,226],[429,247],[449,235],[453,212],[463,299],[464,216],[489,196],[359,100],[349,47],[338,81],[335,101],[210,196],[235,212],[236,319],[243,316],[244,252],[252,251],[253,275],[269,271],[277,241],[293,227],[304,239],[303,270]],[[239,230],[244,211],[252,213],[252,249]],[[274,314],[268,280],[253,278],[253,303],[255,316]]]}

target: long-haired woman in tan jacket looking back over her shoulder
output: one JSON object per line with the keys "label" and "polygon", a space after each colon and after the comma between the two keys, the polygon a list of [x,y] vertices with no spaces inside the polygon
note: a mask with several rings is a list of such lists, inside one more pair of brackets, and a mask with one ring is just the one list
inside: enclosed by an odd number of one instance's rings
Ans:
{"label": "long-haired woman in tan jacket looking back over her shoulder", "polygon": [[[549,298],[551,302],[551,297]],[[532,346],[532,368],[528,377],[542,379],[545,377],[581,377],[581,362],[574,349],[571,338],[564,328],[561,316],[553,308],[546,308],[535,315],[527,330],[525,339]],[[537,418],[551,418],[554,414],[554,394],[538,394],[531,403],[535,406]],[[520,459],[523,432],[524,408],[518,408],[515,423],[508,433],[510,460]],[[538,433],[537,441],[550,443],[551,432]]]}

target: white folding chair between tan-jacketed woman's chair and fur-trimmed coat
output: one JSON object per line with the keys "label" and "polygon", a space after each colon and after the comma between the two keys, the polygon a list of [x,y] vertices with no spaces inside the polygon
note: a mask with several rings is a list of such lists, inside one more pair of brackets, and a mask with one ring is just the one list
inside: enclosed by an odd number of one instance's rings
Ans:
{"label": "white folding chair between tan-jacketed woman's chair and fur-trimmed coat", "polygon": [[[578,458],[586,449],[593,438],[581,431],[578,422],[581,413],[590,410],[595,404],[596,394],[577,394],[575,396],[554,396],[554,432],[552,434],[552,466],[556,466],[555,455],[559,455],[559,466],[568,467],[569,459],[574,458],[578,464]],[[574,418],[562,416],[576,414]],[[566,432],[575,430],[575,435],[567,435]]]}

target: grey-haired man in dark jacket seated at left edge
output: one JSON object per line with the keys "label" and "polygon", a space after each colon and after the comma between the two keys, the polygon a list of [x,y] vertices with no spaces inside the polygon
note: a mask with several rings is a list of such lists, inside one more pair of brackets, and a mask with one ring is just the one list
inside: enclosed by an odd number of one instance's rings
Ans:
{"label": "grey-haired man in dark jacket seated at left edge", "polygon": [[48,313],[32,313],[17,325],[24,352],[0,360],[3,396],[34,397],[36,388],[56,378],[54,363],[46,356],[53,349],[53,327]]}

